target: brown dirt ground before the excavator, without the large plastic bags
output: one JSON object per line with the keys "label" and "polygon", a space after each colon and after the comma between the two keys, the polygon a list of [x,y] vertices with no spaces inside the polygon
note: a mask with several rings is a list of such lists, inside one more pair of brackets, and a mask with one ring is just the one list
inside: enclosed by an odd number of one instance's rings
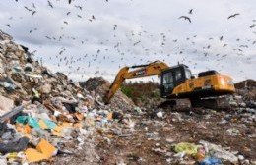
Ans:
{"label": "brown dirt ground before the excavator, without the large plastic bags", "polygon": [[[119,135],[114,129],[100,132],[96,140],[99,164],[196,164],[191,156],[175,158],[173,144],[198,144],[200,140],[238,151],[245,159],[256,159],[256,124],[246,123],[241,114],[209,110],[203,115],[171,112],[164,119],[150,119],[146,114],[134,118],[134,130],[123,128]],[[236,129],[236,134],[228,134],[228,129]]]}

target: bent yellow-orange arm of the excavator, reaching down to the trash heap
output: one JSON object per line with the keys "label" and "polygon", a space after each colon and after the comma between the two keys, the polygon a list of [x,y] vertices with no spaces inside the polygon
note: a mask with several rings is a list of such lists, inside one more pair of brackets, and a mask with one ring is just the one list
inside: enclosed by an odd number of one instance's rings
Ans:
{"label": "bent yellow-orange arm of the excavator, reaching down to the trash heap", "polygon": [[[126,79],[141,78],[152,75],[158,75],[162,70],[168,69],[168,65],[163,62],[155,61],[146,65],[138,65],[132,67],[123,67],[115,77],[114,82],[111,84],[109,91],[105,97],[105,102],[109,103],[118,88]],[[129,69],[135,69],[129,72]]]}

